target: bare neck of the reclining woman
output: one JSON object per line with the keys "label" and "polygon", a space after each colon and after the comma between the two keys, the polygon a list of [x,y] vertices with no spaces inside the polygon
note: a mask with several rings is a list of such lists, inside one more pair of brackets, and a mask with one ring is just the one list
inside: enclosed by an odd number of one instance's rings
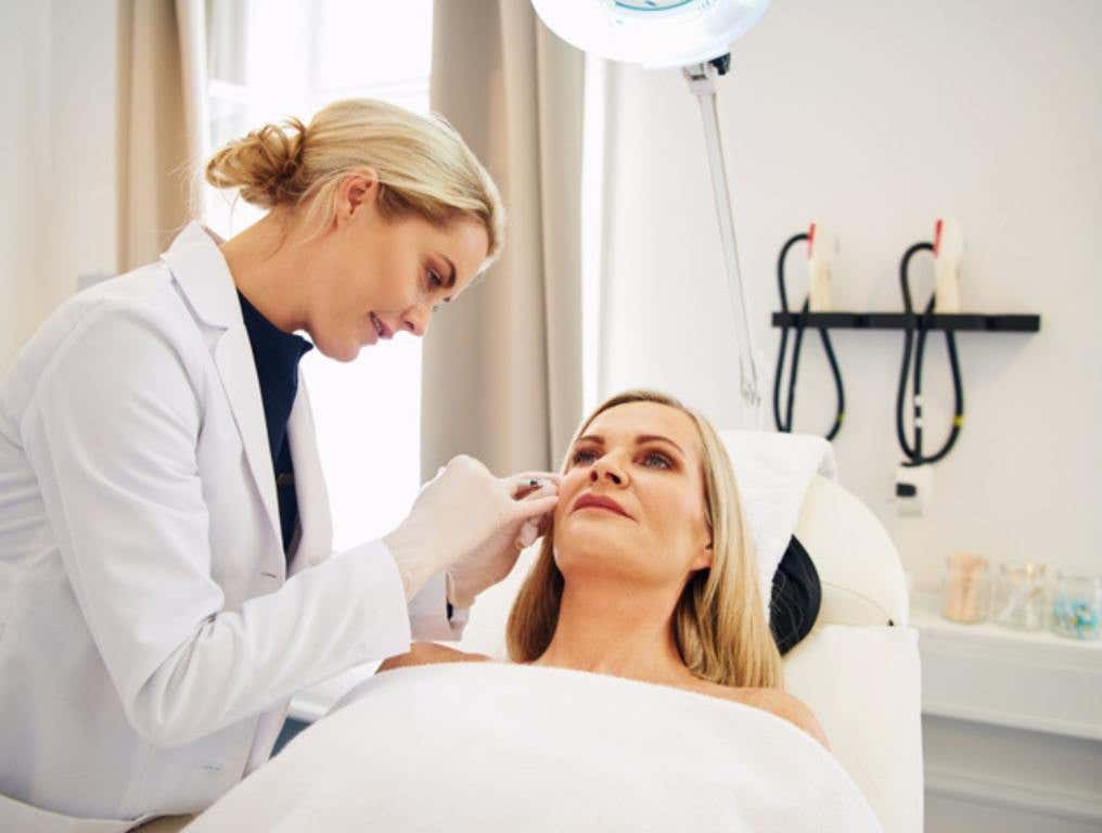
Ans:
{"label": "bare neck of the reclining woman", "polygon": [[655,683],[690,682],[695,678],[681,660],[670,627],[676,604],[669,588],[627,588],[619,580],[591,576],[568,581],[551,645],[536,664]]}

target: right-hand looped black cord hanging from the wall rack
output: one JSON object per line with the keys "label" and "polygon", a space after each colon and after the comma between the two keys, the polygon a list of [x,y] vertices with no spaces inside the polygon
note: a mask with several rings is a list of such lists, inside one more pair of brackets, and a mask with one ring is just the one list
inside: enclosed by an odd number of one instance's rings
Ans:
{"label": "right-hand looped black cord hanging from the wall rack", "polygon": [[[899,447],[903,448],[907,461],[904,466],[920,466],[925,463],[937,463],[944,457],[957,444],[961,429],[964,426],[964,386],[961,381],[960,361],[957,357],[957,338],[951,329],[946,331],[946,347],[949,351],[949,367],[953,376],[953,426],[949,432],[941,448],[936,454],[923,456],[922,454],[922,357],[926,353],[926,336],[929,326],[928,316],[933,312],[934,295],[930,295],[926,304],[926,311],[921,315],[915,315],[915,306],[910,296],[910,280],[907,268],[910,259],[920,251],[933,251],[933,245],[920,242],[911,246],[903,256],[899,262],[899,286],[903,290],[904,311],[911,316],[904,328],[903,342],[903,368],[899,371],[899,389],[896,392],[896,436],[899,439]],[[915,345],[915,335],[918,335],[918,343]],[[915,419],[915,444],[907,441],[907,432],[904,429],[903,411],[907,396],[907,377],[910,375],[911,349],[915,351],[915,385],[914,385],[914,419]]]}

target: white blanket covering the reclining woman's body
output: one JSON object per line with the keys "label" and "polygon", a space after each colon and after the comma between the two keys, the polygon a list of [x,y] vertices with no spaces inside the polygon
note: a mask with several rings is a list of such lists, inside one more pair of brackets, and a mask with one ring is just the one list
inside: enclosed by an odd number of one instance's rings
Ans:
{"label": "white blanket covering the reclining woman's body", "polygon": [[725,700],[454,663],[380,674],[345,702],[188,833],[879,831],[818,742]]}

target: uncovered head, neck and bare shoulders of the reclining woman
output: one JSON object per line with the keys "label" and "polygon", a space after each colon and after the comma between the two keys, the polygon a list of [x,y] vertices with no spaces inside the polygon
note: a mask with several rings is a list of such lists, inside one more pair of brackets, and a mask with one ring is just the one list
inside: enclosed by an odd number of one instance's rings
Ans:
{"label": "uncovered head, neck and bare shoulders of the reclining woman", "polygon": [[[509,657],[735,701],[829,748],[811,710],[781,688],[758,586],[714,429],[672,398],[624,393],[568,452],[559,505],[509,616]],[[379,670],[487,660],[417,642]]]}

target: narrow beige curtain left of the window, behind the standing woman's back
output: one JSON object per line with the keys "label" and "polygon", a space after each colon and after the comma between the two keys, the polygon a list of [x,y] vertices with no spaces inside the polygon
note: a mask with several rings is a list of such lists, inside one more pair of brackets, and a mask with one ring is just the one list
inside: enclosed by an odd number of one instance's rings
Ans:
{"label": "narrow beige curtain left of the window, behind the standing woman's back", "polygon": [[199,213],[203,0],[119,4],[119,271],[155,260]]}

